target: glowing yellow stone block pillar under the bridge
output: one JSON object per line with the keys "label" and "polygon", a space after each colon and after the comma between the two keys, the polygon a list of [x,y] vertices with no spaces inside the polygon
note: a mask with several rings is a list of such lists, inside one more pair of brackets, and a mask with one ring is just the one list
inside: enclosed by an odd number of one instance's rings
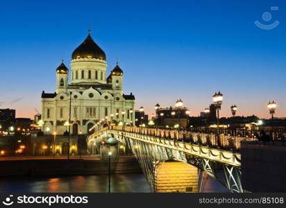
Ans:
{"label": "glowing yellow stone block pillar under the bridge", "polygon": [[158,193],[197,192],[198,168],[184,162],[162,162],[155,168],[154,180],[154,191]]}

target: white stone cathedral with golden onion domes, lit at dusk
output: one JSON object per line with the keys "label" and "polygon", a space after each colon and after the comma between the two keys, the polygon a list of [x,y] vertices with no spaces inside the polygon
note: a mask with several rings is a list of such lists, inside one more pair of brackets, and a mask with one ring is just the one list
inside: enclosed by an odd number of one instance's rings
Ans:
{"label": "white stone cathedral with golden onion domes, lit at dusk", "polygon": [[107,67],[106,53],[89,31],[72,53],[70,70],[63,61],[56,69],[56,92],[42,92],[45,134],[62,135],[69,125],[72,135],[90,134],[99,121],[133,125],[135,97],[123,94],[124,72],[117,62],[106,78]]}

